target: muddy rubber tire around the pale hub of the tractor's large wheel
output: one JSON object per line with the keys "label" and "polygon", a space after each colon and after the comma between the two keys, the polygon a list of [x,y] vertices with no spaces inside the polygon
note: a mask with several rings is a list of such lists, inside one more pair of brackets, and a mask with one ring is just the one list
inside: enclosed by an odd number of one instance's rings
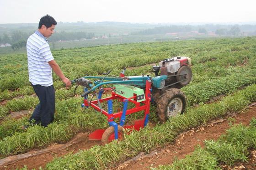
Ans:
{"label": "muddy rubber tire around the pale hub of the tractor's large wheel", "polygon": [[186,108],[186,98],[183,92],[181,92],[178,88],[171,88],[165,93],[163,93],[158,102],[157,102],[157,114],[160,118],[160,121],[164,123],[166,120],[169,119],[167,115],[167,106],[174,98],[180,98],[182,104],[181,114],[185,111]]}

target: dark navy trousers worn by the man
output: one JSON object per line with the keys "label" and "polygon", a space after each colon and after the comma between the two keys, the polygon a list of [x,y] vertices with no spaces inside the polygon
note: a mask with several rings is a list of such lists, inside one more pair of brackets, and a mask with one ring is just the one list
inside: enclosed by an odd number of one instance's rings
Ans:
{"label": "dark navy trousers worn by the man", "polygon": [[54,112],[55,112],[55,90],[53,85],[49,87],[44,87],[41,85],[32,85],[35,93],[39,98],[39,103],[37,104],[34,112],[32,113],[29,122],[34,124],[39,124],[46,127],[48,124],[53,122]]}

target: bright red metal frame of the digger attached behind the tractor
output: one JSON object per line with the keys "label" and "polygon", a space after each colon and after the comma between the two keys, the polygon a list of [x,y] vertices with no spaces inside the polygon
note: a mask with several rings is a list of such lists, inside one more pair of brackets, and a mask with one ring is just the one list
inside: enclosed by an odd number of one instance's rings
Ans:
{"label": "bright red metal frame of the digger attached behind the tractor", "polygon": [[[109,90],[109,88],[104,88],[104,90]],[[100,103],[103,103],[108,100],[119,100],[120,102],[124,102],[124,100],[128,100],[128,102],[134,103],[135,107],[131,109],[127,109],[125,115],[129,115],[132,113],[137,113],[139,111],[145,111],[144,112],[144,118],[141,120],[136,120],[133,125],[129,126],[124,126],[125,129],[135,129],[139,130],[140,128],[144,128],[144,124],[147,124],[148,121],[148,114],[149,114],[149,109],[150,109],[150,100],[151,100],[151,81],[147,80],[146,81],[146,86],[145,86],[145,100],[143,102],[137,102],[136,101],[136,96],[133,96],[131,98],[124,98],[123,96],[115,93],[112,90],[111,97],[107,98],[101,98],[99,99]],[[132,100],[133,99],[133,100]],[[97,111],[102,112],[104,115],[107,116],[107,121],[112,122],[114,118],[121,118],[123,111],[117,112],[117,113],[112,113],[109,114],[106,110],[101,109],[98,106],[98,100],[93,100],[91,102],[88,101],[88,99],[84,99],[84,104],[85,106],[91,106],[95,108]],[[97,129],[96,131],[92,132],[89,135],[89,140],[101,140],[102,134],[104,133],[105,129]]]}

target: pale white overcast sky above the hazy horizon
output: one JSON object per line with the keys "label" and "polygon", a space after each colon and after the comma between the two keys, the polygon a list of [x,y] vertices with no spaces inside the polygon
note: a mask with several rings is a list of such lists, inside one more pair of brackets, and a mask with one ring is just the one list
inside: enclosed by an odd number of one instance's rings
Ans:
{"label": "pale white overcast sky above the hazy horizon", "polygon": [[256,24],[255,0],[0,0],[0,24],[63,22]]}

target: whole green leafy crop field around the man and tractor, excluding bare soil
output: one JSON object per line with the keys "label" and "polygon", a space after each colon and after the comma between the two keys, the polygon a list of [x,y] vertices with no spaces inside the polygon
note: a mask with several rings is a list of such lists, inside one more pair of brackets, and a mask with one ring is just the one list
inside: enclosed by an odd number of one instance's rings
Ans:
{"label": "whole green leafy crop field around the man and tractor, excluding bare soil", "polygon": [[[122,45],[95,46],[52,51],[54,59],[69,79],[86,75],[102,75],[111,70],[118,75],[123,67],[127,67],[126,75],[154,75],[149,64],[173,56],[192,58],[192,82],[181,90],[186,94],[187,109],[183,115],[171,118],[165,124],[158,123],[155,106],[150,109],[149,121],[155,127],[147,127],[133,132],[117,144],[112,142],[105,146],[94,146],[56,158],[46,165],[48,169],[105,169],[117,166],[120,162],[135,157],[140,152],[150,152],[152,149],[172,143],[176,136],[188,129],[208,123],[215,118],[224,117],[227,113],[237,112],[256,101],[256,37],[235,39],[169,41],[132,43]],[[132,67],[129,69],[129,67]],[[32,126],[26,131],[21,126],[26,123],[32,108],[38,99],[28,82],[27,56],[21,54],[0,55],[0,157],[26,153],[30,149],[43,149],[53,143],[65,143],[78,132],[107,128],[105,116],[93,109],[80,109],[82,98],[74,97],[74,88],[68,90],[53,74],[56,90],[55,121],[47,128]],[[82,93],[82,89],[78,89]],[[216,102],[214,97],[222,95]],[[12,118],[11,113],[29,110],[22,118]],[[132,121],[131,116],[128,119]],[[245,129],[250,136],[255,132],[255,119],[251,127],[234,127],[233,130]],[[238,130],[236,130],[238,131]],[[248,131],[248,132],[247,132]],[[209,168],[218,168],[220,163],[234,165],[235,161],[245,161],[248,149],[256,149],[256,145],[231,144],[232,132],[227,134],[223,144],[207,141],[207,151],[197,149],[194,155],[205,155],[209,159],[213,155],[222,155],[217,146],[237,148],[237,155],[242,159],[228,161],[213,159]],[[255,133],[254,133],[255,134]],[[255,135],[251,135],[255,142]],[[242,138],[240,140],[243,140]],[[249,140],[249,139],[248,139]],[[247,141],[248,142],[248,141]],[[251,141],[250,141],[251,142]],[[223,149],[225,151],[225,149]],[[241,152],[240,152],[241,151]],[[209,154],[210,153],[210,154]],[[242,154],[242,155],[241,155]],[[234,156],[234,155],[233,155]],[[193,157],[193,156],[192,156]],[[202,157],[203,159],[203,157]],[[182,162],[183,161],[183,162]],[[193,162],[191,159],[188,160]],[[177,166],[186,160],[176,162]],[[202,163],[205,163],[202,161]],[[170,167],[175,169],[175,166]],[[198,165],[197,167],[204,166]],[[169,167],[169,168],[170,168]],[[193,167],[193,166],[192,166]],[[193,168],[193,169],[197,169]],[[160,167],[165,169],[166,167]],[[167,167],[168,168],[168,167]]]}

